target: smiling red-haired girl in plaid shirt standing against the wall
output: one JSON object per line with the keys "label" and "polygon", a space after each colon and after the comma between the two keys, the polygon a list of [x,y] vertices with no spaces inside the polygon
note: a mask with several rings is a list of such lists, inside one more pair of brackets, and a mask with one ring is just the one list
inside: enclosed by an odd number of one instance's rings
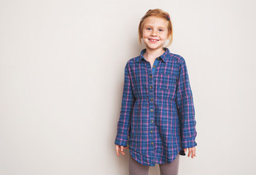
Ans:
{"label": "smiling red-haired girl in plaid shirt standing against the wall", "polygon": [[[139,42],[146,48],[125,65],[116,152],[129,148],[130,174],[178,174],[179,155],[195,157],[195,109],[185,59],[169,52],[171,19],[150,9],[139,23]],[[166,47],[163,45],[166,44]]]}

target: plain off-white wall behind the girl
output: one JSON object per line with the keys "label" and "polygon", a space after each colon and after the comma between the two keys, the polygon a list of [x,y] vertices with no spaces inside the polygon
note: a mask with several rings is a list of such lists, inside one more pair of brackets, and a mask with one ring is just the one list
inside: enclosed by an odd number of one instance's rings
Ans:
{"label": "plain off-white wall behind the girl", "polygon": [[[0,1],[0,174],[128,174],[115,136],[148,9],[168,12],[198,136],[179,174],[255,174],[255,1]],[[151,167],[150,175],[159,174]]]}

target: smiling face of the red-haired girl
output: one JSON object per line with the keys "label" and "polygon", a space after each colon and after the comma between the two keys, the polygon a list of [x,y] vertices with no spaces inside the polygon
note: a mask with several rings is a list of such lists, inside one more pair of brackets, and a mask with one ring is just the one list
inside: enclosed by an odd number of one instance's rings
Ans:
{"label": "smiling face of the red-haired girl", "polygon": [[145,19],[142,28],[142,39],[148,50],[158,50],[168,39],[168,21],[151,16]]}

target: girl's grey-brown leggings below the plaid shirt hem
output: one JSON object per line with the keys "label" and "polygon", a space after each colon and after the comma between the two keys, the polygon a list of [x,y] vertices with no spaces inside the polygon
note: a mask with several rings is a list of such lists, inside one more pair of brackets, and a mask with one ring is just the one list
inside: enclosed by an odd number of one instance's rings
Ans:
{"label": "girl's grey-brown leggings below the plaid shirt hem", "polygon": [[[129,154],[129,174],[148,175],[150,166],[144,166],[134,160]],[[160,175],[177,175],[179,171],[179,154],[171,163],[159,164]]]}

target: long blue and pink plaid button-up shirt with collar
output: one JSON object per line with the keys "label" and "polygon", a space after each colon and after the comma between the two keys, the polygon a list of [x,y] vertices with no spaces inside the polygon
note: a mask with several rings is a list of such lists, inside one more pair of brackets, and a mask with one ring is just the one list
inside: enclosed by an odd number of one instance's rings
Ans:
{"label": "long blue and pink plaid button-up shirt with collar", "polygon": [[195,109],[185,59],[166,52],[153,68],[146,49],[125,65],[125,79],[115,144],[129,147],[144,166],[171,163],[183,148],[195,147]]}

